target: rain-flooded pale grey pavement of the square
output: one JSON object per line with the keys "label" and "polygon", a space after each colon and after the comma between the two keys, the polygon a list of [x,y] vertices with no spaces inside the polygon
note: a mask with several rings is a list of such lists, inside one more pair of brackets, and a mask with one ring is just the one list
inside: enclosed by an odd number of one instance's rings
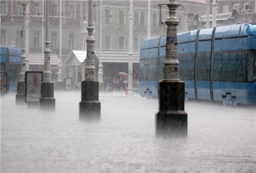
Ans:
{"label": "rain-flooded pale grey pavement of the square", "polygon": [[256,172],[255,107],[185,102],[188,138],[155,137],[156,99],[100,93],[101,121],[81,122],[80,92],[55,112],[1,98],[1,172]]}

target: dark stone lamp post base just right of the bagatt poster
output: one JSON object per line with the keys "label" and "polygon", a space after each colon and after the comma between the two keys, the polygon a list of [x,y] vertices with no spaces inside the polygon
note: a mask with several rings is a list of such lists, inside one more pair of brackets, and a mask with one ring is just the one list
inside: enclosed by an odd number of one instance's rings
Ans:
{"label": "dark stone lamp post base just right of the bagatt poster", "polygon": [[41,97],[39,109],[44,111],[55,111],[54,83],[41,82]]}

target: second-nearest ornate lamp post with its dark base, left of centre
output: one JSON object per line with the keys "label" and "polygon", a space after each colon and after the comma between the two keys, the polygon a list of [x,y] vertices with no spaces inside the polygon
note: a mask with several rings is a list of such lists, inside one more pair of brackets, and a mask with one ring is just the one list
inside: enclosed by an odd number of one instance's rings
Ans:
{"label": "second-nearest ornate lamp post with its dark base, left of centre", "polygon": [[99,81],[95,79],[94,66],[94,26],[92,23],[92,0],[89,0],[87,52],[85,59],[85,79],[81,82],[80,120],[100,120]]}

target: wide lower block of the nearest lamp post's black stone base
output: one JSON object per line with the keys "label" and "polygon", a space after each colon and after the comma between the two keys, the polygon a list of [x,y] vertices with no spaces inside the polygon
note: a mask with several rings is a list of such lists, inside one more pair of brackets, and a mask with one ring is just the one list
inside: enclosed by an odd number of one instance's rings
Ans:
{"label": "wide lower block of the nearest lamp post's black stone base", "polygon": [[184,110],[159,110],[155,118],[156,136],[188,136],[188,114]]}

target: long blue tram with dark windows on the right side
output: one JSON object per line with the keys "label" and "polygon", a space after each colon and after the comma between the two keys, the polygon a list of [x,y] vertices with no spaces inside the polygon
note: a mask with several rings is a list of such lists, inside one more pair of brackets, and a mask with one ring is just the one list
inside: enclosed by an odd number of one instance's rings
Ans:
{"label": "long blue tram with dark windows on the right side", "polygon": [[[158,96],[166,36],[140,47],[140,96]],[[178,34],[185,98],[256,105],[256,25],[238,24]],[[148,90],[147,90],[148,89]]]}

